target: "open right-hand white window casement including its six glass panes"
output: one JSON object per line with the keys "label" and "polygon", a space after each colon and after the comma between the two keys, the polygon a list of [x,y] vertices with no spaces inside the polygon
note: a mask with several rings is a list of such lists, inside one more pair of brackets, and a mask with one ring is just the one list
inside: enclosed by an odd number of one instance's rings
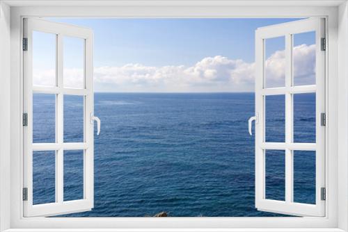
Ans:
{"label": "open right-hand white window casement including its six glass panes", "polygon": [[[324,19],[301,19],[258,28],[255,32],[255,117],[251,120],[255,119],[255,207],[258,210],[299,216],[325,215],[324,24]],[[313,44],[308,44],[310,36],[313,36]],[[312,55],[306,56],[310,52]],[[305,60],[306,57],[310,57],[311,61]],[[313,63],[312,67],[308,67],[310,62]],[[312,74],[304,75],[301,67],[312,69]],[[299,130],[301,132],[301,129],[294,127],[294,115],[301,113],[299,108],[295,108],[299,94],[315,95],[315,109],[313,109],[315,132],[310,142],[295,138]],[[283,99],[284,104],[272,106],[272,103],[279,102],[269,100],[272,97]],[[273,115],[269,115],[267,110],[272,108]],[[283,114],[280,113],[282,111]],[[280,118],[271,122],[267,117],[274,117],[274,114],[278,114]],[[305,115],[303,122],[306,121],[309,123],[310,117]],[[267,127],[269,124],[271,124],[270,129]],[[278,126],[282,132],[277,134],[272,131],[272,126],[274,128]],[[267,157],[272,153],[277,153],[278,156],[272,156],[273,158],[269,160]],[[301,166],[301,156],[308,154],[315,156],[313,158],[315,199],[310,204],[298,202],[294,197],[294,190],[301,190],[299,186],[301,181],[294,183],[295,170]],[[297,160],[300,162],[295,162],[296,158],[299,158]],[[283,165],[272,166],[269,162],[283,163]],[[277,169],[283,169],[283,181],[279,181]],[[272,178],[269,173],[272,172],[273,178],[278,178],[278,182],[274,181],[268,185],[269,178]],[[278,192],[281,196],[274,197],[272,191]],[[301,194],[306,195],[306,192]]]}

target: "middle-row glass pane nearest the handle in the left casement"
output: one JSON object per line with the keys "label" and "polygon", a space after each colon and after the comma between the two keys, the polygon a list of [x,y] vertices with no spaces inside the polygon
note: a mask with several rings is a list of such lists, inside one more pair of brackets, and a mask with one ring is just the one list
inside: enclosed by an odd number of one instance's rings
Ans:
{"label": "middle-row glass pane nearest the handle in the left casement", "polygon": [[64,95],[64,142],[84,142],[84,97]]}

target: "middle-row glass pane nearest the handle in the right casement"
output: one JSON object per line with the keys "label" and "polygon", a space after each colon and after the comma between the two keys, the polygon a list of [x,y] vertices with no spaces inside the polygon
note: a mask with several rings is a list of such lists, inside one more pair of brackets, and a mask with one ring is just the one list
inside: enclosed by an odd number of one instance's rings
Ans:
{"label": "middle-row glass pane nearest the handle in the right casement", "polygon": [[285,142],[285,95],[265,96],[266,142]]}

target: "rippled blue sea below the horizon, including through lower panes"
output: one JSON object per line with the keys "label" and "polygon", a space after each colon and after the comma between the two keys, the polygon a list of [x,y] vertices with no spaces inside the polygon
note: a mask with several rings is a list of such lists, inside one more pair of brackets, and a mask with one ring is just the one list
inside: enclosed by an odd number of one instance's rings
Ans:
{"label": "rippled blue sea below the horizon, including through lower panes", "polygon": [[[95,207],[69,217],[279,216],[255,209],[253,93],[95,93]],[[64,140],[83,140],[83,98],[64,98]],[[266,140],[285,141],[267,97]],[[33,141],[54,142],[54,95],[33,96]],[[294,141],[315,142],[315,94],[294,96]],[[64,152],[64,199],[83,197],[83,151]],[[284,199],[285,153],[266,151],[266,197]],[[54,151],[33,154],[34,204],[54,202]],[[294,152],[294,201],[315,203],[315,152]]]}

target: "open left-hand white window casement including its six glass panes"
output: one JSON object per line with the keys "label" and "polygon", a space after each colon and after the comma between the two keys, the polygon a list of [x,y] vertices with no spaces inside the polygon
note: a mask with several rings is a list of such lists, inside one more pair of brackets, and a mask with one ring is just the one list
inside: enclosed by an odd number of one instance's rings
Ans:
{"label": "open left-hand white window casement including its six glass panes", "polygon": [[[50,42],[44,40],[49,38]],[[65,49],[65,41],[76,40],[72,49]],[[35,44],[35,46],[33,45]],[[78,47],[80,54],[78,53]],[[38,53],[53,54],[51,60],[38,60]],[[23,204],[24,217],[52,216],[66,213],[77,213],[93,208],[93,31],[89,28],[46,22],[40,19],[24,19],[23,33],[24,57],[24,183]],[[52,61],[53,60],[53,61]],[[80,69],[68,76],[65,75],[65,61],[75,61],[81,64]],[[51,66],[47,65],[51,63]],[[69,64],[68,65],[72,65]],[[39,71],[38,71],[39,69]],[[40,69],[44,70],[41,74]],[[65,97],[81,99],[81,140],[71,142],[65,140],[65,113],[74,111],[65,109]],[[53,110],[49,106],[35,106],[35,98],[44,97],[45,101],[52,100]],[[36,108],[35,108],[36,107]],[[40,128],[35,122],[33,111],[37,108],[46,110],[47,122],[52,122],[52,138],[37,140],[33,138],[33,131]],[[77,109],[76,109],[77,110]],[[99,124],[99,123],[98,123]],[[82,135],[83,133],[83,135]],[[65,167],[73,166],[71,157],[81,154],[81,194],[77,199],[65,196],[69,189],[65,189],[65,180],[79,179],[76,174],[65,172]],[[46,160],[38,163],[38,157]],[[66,159],[66,162],[65,162]],[[47,161],[49,160],[49,161]],[[51,168],[52,167],[52,168]],[[74,167],[73,167],[74,168]],[[36,176],[47,171],[46,176]],[[46,172],[45,172],[46,173]],[[70,176],[65,176],[65,174]],[[46,185],[45,180],[52,177],[52,186]],[[44,179],[44,180],[42,180]],[[37,190],[34,183],[42,181],[44,186],[38,190],[49,192],[51,200],[35,199]]]}

